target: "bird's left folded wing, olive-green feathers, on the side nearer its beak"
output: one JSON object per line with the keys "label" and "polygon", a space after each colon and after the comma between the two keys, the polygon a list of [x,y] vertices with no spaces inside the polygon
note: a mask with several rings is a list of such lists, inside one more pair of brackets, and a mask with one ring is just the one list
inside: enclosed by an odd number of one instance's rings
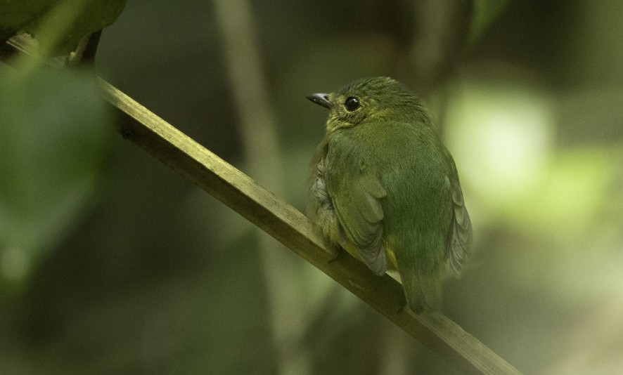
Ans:
{"label": "bird's left folded wing, olive-green feathers, on the side nearer its beak", "polygon": [[383,207],[380,198],[387,192],[380,180],[361,175],[350,180],[348,190],[341,189],[338,198],[332,195],[335,213],[345,237],[354,244],[357,253],[368,268],[377,275],[387,270],[387,256],[383,249]]}

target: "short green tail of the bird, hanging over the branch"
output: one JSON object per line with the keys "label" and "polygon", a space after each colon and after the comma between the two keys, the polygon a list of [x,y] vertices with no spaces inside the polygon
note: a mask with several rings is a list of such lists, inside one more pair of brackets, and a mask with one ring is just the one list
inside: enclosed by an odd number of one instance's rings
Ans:
{"label": "short green tail of the bird, hanging over the branch", "polygon": [[422,310],[439,310],[438,272],[400,272],[406,304],[413,313]]}

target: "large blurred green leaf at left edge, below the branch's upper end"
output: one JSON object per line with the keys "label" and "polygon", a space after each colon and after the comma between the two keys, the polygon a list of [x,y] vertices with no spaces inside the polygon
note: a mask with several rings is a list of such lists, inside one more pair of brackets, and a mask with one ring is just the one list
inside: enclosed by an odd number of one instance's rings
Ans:
{"label": "large blurred green leaf at left edge, below the branch's upper end", "polygon": [[93,192],[109,114],[86,72],[0,66],[0,81],[0,275],[18,280]]}

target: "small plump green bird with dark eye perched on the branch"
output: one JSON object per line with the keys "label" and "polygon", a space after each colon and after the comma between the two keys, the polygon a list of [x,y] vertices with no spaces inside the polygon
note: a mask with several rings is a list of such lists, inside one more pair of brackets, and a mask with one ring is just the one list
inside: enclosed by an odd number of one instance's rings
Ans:
{"label": "small plump green bird with dark eye perched on the branch", "polygon": [[450,153],[420,100],[394,79],[361,79],[307,97],[329,110],[309,178],[309,217],[375,274],[397,270],[415,313],[439,309],[472,225]]}

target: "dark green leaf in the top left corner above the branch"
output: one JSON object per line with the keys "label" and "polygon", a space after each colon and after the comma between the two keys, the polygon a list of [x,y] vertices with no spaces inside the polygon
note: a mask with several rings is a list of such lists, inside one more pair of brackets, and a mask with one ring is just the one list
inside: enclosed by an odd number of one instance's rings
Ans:
{"label": "dark green leaf in the top left corner above the branch", "polygon": [[84,35],[117,19],[126,0],[6,0],[0,12],[0,42],[32,34],[48,55],[73,51]]}

